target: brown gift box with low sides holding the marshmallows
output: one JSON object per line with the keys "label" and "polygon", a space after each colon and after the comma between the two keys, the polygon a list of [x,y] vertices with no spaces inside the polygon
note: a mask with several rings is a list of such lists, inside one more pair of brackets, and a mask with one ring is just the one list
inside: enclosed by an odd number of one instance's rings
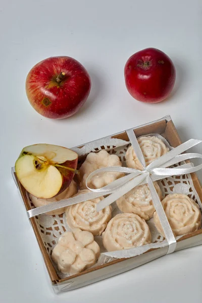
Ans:
{"label": "brown gift box with low sides holding the marshmallows", "polygon": [[[161,134],[163,137],[167,139],[167,141],[170,143],[172,147],[176,147],[182,143],[177,130],[170,118],[170,116],[166,116],[160,120],[153,121],[141,126],[137,126],[133,128],[136,137],[150,134],[150,133],[158,133]],[[109,137],[109,136],[108,136]],[[114,134],[110,136],[111,138],[117,138],[128,141],[128,136],[125,131]],[[94,143],[96,140],[94,141]],[[81,148],[82,146],[76,146]],[[85,160],[85,157],[79,157],[79,166],[82,164],[82,162]],[[25,205],[26,210],[30,210],[30,204],[27,199],[26,191],[23,188],[23,186],[18,181],[15,172],[13,172],[14,180],[19,188],[20,194],[23,199],[23,203]],[[200,182],[196,176],[195,173],[191,174],[192,182],[195,187],[195,190],[197,191],[197,194],[202,200],[202,188],[200,185]],[[99,280],[103,280],[109,277],[112,277],[114,275],[120,274],[122,272],[126,272],[130,269],[136,268],[140,265],[143,265],[147,262],[150,262],[152,260],[155,260],[157,258],[160,258],[164,255],[166,255],[168,247],[162,247],[162,248],[156,248],[156,249],[150,249],[144,254],[128,259],[116,259],[110,263],[106,263],[102,266],[93,267],[91,269],[85,270],[79,274],[67,277],[65,279],[60,279],[58,276],[51,258],[49,257],[46,248],[43,245],[43,241],[41,239],[41,234],[37,228],[35,218],[30,219],[31,226],[33,228],[33,231],[35,233],[38,245],[41,250],[41,254],[43,256],[43,260],[49,275],[49,278],[51,279],[54,291],[56,293],[61,291],[67,291],[72,290],[78,287],[82,287],[94,282],[97,282]],[[177,240],[177,246],[176,250],[196,246],[202,244],[202,229],[199,229],[195,232],[192,232],[190,234],[187,234],[183,237],[181,237],[179,240]]]}

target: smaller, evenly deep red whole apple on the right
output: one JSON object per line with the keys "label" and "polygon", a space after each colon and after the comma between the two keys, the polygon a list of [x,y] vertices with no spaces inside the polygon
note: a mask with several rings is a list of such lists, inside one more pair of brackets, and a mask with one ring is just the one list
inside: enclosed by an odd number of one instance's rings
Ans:
{"label": "smaller, evenly deep red whole apple on the right", "polygon": [[128,59],[124,75],[126,88],[133,98],[158,103],[171,93],[176,71],[165,53],[157,48],[145,48]]}

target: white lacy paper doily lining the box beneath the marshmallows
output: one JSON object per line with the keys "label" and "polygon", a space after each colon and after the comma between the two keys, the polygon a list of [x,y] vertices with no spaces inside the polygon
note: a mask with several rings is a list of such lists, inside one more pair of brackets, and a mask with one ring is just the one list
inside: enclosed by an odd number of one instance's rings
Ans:
{"label": "white lacy paper doily lining the box beneath the marshmallows", "polygon": [[[159,137],[160,139],[162,139],[164,141],[164,143],[166,144],[167,147],[169,147],[169,149],[173,149],[173,147],[171,147],[169,145],[168,141],[161,135],[149,134],[146,136],[151,136],[151,135],[155,135],[155,136]],[[126,166],[125,154],[126,154],[127,148],[129,146],[130,146],[130,142],[120,140],[120,139],[114,139],[111,137],[106,137],[103,139],[89,142],[89,143],[85,144],[82,148],[75,147],[72,149],[75,150],[79,156],[87,156],[87,154],[89,154],[92,151],[97,152],[99,150],[105,149],[109,152],[109,154],[117,155],[120,158],[122,165]],[[181,164],[183,164],[183,163],[181,163]],[[179,166],[179,165],[175,165],[175,167],[177,167],[177,166]],[[161,187],[164,197],[165,197],[165,195],[172,194],[172,193],[186,194],[199,205],[200,210],[202,211],[202,205],[201,205],[199,196],[193,186],[193,182],[192,182],[190,174],[168,177],[168,178],[158,181],[158,184]],[[34,208],[34,205],[32,204],[28,193],[27,193],[27,198],[28,198],[30,207]],[[118,207],[116,205],[116,202],[114,202],[112,204],[112,209],[113,209],[112,217],[121,213],[121,211],[118,209]],[[58,242],[58,238],[65,231],[71,230],[67,224],[65,213],[62,215],[54,215],[54,216],[48,216],[48,215],[43,214],[43,215],[36,216],[34,218],[34,220],[36,222],[37,228],[41,235],[41,239],[46,248],[46,251],[47,251],[48,255],[50,256],[50,259],[52,260],[52,258],[51,258],[52,251]],[[152,236],[152,243],[147,244],[150,246],[149,248],[166,246],[167,241],[164,239],[164,237],[162,235],[159,234],[158,230],[156,229],[156,227],[154,225],[153,218],[146,221],[146,223],[149,226],[151,236]],[[176,237],[176,239],[178,239],[178,238],[180,238],[180,237]],[[100,254],[99,259],[96,262],[96,264],[94,264],[91,268],[95,268],[97,266],[100,266],[100,265],[103,265],[103,264],[106,264],[106,263],[109,263],[109,262],[115,260],[115,258],[105,255],[105,253],[107,253],[107,251],[106,251],[105,247],[103,246],[102,236],[95,236],[94,239],[100,247],[101,254]],[[144,246],[147,246],[147,245],[140,246],[139,251],[138,251],[138,249],[136,249],[137,250],[136,255],[142,254],[142,252],[144,252],[143,251]],[[146,247],[145,247],[145,249],[147,250]],[[121,250],[120,252],[121,252],[120,258],[124,258],[124,250]],[[134,254],[133,254],[133,256],[134,256]],[[61,273],[58,270],[56,264],[54,262],[52,262],[52,263],[56,269],[58,276],[61,279],[70,276],[69,274]]]}

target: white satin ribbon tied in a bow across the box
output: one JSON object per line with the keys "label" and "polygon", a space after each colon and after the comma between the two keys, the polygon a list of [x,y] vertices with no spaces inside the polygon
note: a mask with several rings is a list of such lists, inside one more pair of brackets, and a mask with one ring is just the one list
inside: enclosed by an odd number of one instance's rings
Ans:
{"label": "white satin ribbon tied in a bow across the box", "polygon": [[[157,191],[154,187],[153,182],[166,178],[168,176],[174,176],[174,175],[184,175],[192,172],[196,172],[202,168],[202,164],[194,167],[192,163],[183,164],[180,165],[179,168],[167,168],[171,165],[177,164],[181,161],[193,159],[193,158],[200,158],[202,159],[202,155],[195,154],[195,153],[189,153],[189,154],[183,154],[184,151],[187,149],[197,145],[198,143],[202,142],[201,140],[196,139],[190,139],[181,145],[177,146],[176,148],[173,148],[170,150],[167,154],[163,155],[162,157],[156,159],[154,162],[149,164],[145,167],[145,161],[144,157],[142,155],[141,149],[139,147],[139,144],[137,142],[136,136],[134,134],[133,130],[127,130],[126,131],[130,140],[130,143],[133,146],[133,149],[135,150],[135,154],[137,155],[138,159],[140,160],[143,170],[137,170],[133,168],[128,167],[104,167],[101,169],[98,169],[94,172],[92,172],[87,180],[86,180],[86,186],[91,191],[86,194],[78,195],[76,197],[72,197],[69,199],[64,199],[57,201],[55,203],[41,206],[32,210],[29,210],[28,216],[29,218],[44,214],[47,212],[51,212],[63,207],[67,207],[70,205],[74,205],[77,203],[84,202],[86,200],[90,200],[96,197],[100,197],[103,195],[108,195],[105,199],[100,201],[97,204],[97,211],[100,211],[104,209],[106,206],[112,204],[114,201],[116,201],[118,198],[126,194],[128,191],[130,191],[132,188],[134,188],[137,185],[148,183],[150,192],[151,192],[151,198],[153,199],[154,207],[157,211],[157,214],[159,216],[160,222],[162,224],[166,239],[168,241],[169,247],[167,254],[170,254],[175,250],[176,247],[176,239],[173,235],[172,229],[169,225],[168,219],[165,215],[164,209],[162,207],[161,201],[159,199],[159,196],[157,194]],[[98,175],[99,173],[103,172],[122,172],[127,174],[126,176],[119,178],[115,180],[114,182],[98,189],[93,189],[88,187],[88,183],[91,180],[91,178],[95,175]]]}

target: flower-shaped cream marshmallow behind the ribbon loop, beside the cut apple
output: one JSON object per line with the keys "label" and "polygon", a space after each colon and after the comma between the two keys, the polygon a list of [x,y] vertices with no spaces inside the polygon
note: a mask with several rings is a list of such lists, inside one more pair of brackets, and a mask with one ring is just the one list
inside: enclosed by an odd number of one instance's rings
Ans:
{"label": "flower-shaped cream marshmallow behind the ribbon loop, beside the cut apple", "polygon": [[[110,155],[106,150],[100,150],[99,153],[90,153],[79,169],[80,189],[86,188],[87,177],[95,170],[109,166],[122,166],[119,157]],[[100,188],[110,184],[124,176],[124,173],[119,172],[105,172],[93,176],[88,183],[90,188]]]}

